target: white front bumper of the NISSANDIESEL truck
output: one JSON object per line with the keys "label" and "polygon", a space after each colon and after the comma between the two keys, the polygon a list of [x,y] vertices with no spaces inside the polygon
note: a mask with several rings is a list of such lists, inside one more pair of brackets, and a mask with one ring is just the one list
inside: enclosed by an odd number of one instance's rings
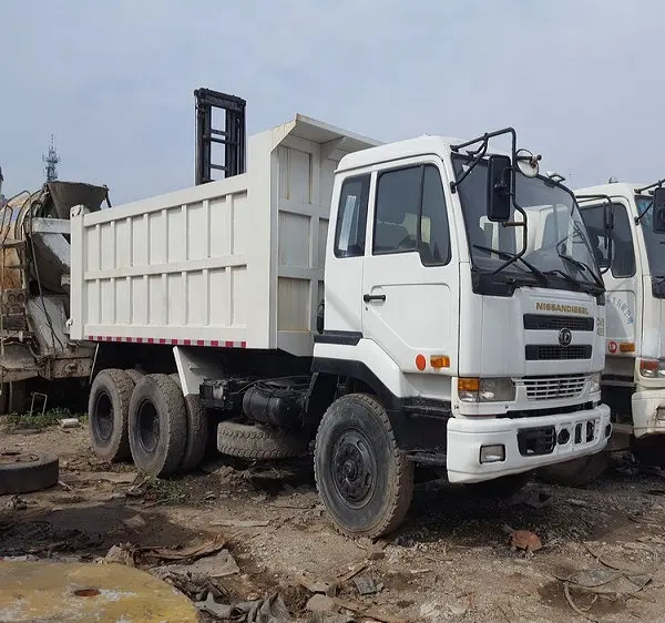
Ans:
{"label": "white front bumper of the NISSANDIESEL truck", "polygon": [[[606,405],[561,416],[450,418],[448,479],[481,482],[594,455],[605,448],[611,431]],[[497,445],[505,448],[504,460],[481,463],[481,447]]]}

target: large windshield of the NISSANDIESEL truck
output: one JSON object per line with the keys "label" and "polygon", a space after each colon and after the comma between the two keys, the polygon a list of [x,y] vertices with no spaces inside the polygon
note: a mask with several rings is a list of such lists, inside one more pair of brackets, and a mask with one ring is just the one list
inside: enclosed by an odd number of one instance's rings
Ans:
{"label": "large windshield of the NISSANDIESEL truck", "polygon": [[[471,159],[453,155],[458,180]],[[487,161],[480,161],[457,187],[473,266],[479,272],[497,270],[524,244],[524,228],[492,223],[487,217]],[[548,276],[549,287],[596,290],[602,282],[577,204],[571,193],[545,177],[515,175],[515,200],[526,213],[525,262],[514,262],[500,274],[533,273],[528,264]],[[523,221],[514,211],[511,221]],[[526,264],[528,263],[528,264]]]}

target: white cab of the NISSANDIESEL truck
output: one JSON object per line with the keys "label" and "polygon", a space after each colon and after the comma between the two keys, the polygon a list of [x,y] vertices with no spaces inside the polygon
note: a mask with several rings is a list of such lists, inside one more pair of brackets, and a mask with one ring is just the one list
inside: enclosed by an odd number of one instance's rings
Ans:
{"label": "white cab of the NISSANDIESEL truck", "polygon": [[[499,488],[598,452],[611,426],[604,287],[575,198],[488,142],[426,136],[341,160],[313,369],[378,397],[412,461]],[[345,435],[321,460],[370,473],[369,436]]]}

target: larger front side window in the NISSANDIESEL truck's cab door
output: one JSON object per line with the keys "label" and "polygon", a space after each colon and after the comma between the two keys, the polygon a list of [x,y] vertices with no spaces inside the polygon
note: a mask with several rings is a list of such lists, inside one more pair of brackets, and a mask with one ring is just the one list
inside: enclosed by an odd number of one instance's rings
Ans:
{"label": "larger front side window in the NISSANDIESEL truck's cab door", "polygon": [[379,175],[372,252],[418,252],[426,266],[448,264],[446,195],[434,165],[396,168]]}

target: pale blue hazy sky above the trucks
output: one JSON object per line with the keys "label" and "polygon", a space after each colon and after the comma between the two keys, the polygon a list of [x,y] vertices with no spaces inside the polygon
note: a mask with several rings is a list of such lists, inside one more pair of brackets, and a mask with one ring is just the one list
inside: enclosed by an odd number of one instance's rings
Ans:
{"label": "pale blue hazy sky above the trucks", "polygon": [[[193,91],[382,141],[505,125],[571,186],[665,176],[656,0],[0,0],[4,194],[60,177],[114,204],[194,181]],[[661,84],[661,86],[659,86]]]}

